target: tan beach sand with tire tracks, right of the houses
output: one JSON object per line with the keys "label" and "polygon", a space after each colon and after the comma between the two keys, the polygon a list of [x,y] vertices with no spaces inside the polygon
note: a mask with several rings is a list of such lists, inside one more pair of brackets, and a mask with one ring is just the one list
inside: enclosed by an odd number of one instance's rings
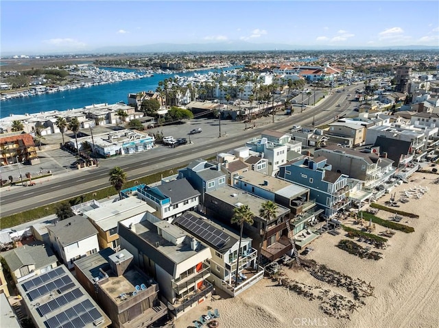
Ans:
{"label": "tan beach sand with tire tracks, right of the houses", "polygon": [[[373,297],[362,298],[364,305],[348,311],[349,320],[324,314],[320,307],[322,300],[310,301],[285,286],[278,286],[276,281],[264,278],[238,297],[224,297],[217,301],[207,299],[178,318],[176,328],[194,327],[193,320],[206,314],[210,307],[219,310],[219,327],[224,328],[439,327],[439,184],[433,184],[438,178],[439,175],[414,173],[408,184],[397,186],[391,194],[385,194],[377,201],[384,205],[392,194],[396,194],[395,199],[398,200],[404,190],[415,186],[428,188],[420,199],[411,198],[408,203],[399,203],[401,207],[398,210],[420,217],[404,217],[400,222],[414,227],[414,233],[396,231],[388,239],[388,247],[372,248],[383,254],[381,260],[360,259],[335,247],[339,240],[348,239],[342,230],[338,236],[322,234],[310,245],[314,250],[306,256],[308,259],[375,287]],[[363,209],[366,207],[368,205]],[[383,210],[376,215],[385,219],[392,216]],[[343,224],[359,227],[350,218]],[[385,229],[376,225],[374,234]],[[358,243],[363,247],[370,246]],[[285,267],[283,272],[284,277],[299,283],[329,290],[329,297],[339,294],[353,300],[353,294],[345,288],[319,281],[306,270]]]}

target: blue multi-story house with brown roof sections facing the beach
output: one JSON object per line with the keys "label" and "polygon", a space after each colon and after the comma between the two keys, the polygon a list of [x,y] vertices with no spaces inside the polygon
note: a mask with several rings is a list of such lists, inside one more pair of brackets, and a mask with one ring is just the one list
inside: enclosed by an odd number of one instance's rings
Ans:
{"label": "blue multi-story house with brown roof sections facing the beach", "polygon": [[348,176],[331,169],[326,157],[305,157],[281,166],[278,177],[309,188],[309,197],[331,217],[350,203]]}

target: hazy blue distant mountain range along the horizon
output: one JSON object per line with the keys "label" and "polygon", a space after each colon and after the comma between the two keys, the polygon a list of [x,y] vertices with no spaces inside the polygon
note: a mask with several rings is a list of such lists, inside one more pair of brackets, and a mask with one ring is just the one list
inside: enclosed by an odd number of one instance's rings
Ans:
{"label": "hazy blue distant mountain range along the horizon", "polygon": [[324,50],[439,50],[436,46],[424,45],[407,45],[392,47],[340,47],[329,45],[285,45],[281,43],[251,43],[244,41],[226,41],[211,43],[155,43],[152,45],[139,46],[108,46],[99,47],[93,50],[82,51],[64,51],[51,53],[37,53],[36,51],[21,51],[19,53],[12,51],[3,51],[2,56],[10,55],[60,55],[63,53],[70,54],[102,54],[102,53],[172,53],[172,52],[209,52],[209,51],[324,51]]}

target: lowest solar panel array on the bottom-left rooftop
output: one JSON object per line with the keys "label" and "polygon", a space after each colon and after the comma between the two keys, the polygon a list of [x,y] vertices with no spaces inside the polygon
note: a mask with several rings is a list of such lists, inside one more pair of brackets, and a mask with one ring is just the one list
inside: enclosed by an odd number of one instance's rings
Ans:
{"label": "lowest solar panel array on the bottom-left rooftop", "polygon": [[87,299],[45,320],[44,323],[47,328],[79,328],[102,319],[102,314]]}

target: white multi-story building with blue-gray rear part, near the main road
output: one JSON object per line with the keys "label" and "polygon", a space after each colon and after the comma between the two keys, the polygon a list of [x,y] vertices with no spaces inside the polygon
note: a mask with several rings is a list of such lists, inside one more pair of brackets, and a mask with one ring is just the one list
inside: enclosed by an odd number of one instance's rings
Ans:
{"label": "white multi-story building with blue-gray rear part, near the main road", "polygon": [[253,139],[246,142],[246,147],[268,160],[268,175],[278,173],[279,166],[287,162],[288,147],[285,144],[269,142],[267,138]]}

